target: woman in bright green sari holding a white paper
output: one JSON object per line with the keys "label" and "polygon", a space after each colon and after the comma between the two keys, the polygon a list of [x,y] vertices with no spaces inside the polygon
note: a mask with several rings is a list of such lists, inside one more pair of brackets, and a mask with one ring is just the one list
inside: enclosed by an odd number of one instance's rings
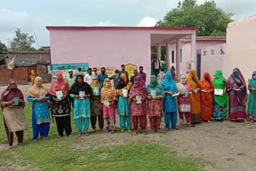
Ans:
{"label": "woman in bright green sari holding a white paper", "polygon": [[[222,121],[227,116],[228,94],[226,93],[226,78],[223,77],[222,70],[217,70],[214,74],[214,119]],[[218,94],[216,90],[222,92]]]}

